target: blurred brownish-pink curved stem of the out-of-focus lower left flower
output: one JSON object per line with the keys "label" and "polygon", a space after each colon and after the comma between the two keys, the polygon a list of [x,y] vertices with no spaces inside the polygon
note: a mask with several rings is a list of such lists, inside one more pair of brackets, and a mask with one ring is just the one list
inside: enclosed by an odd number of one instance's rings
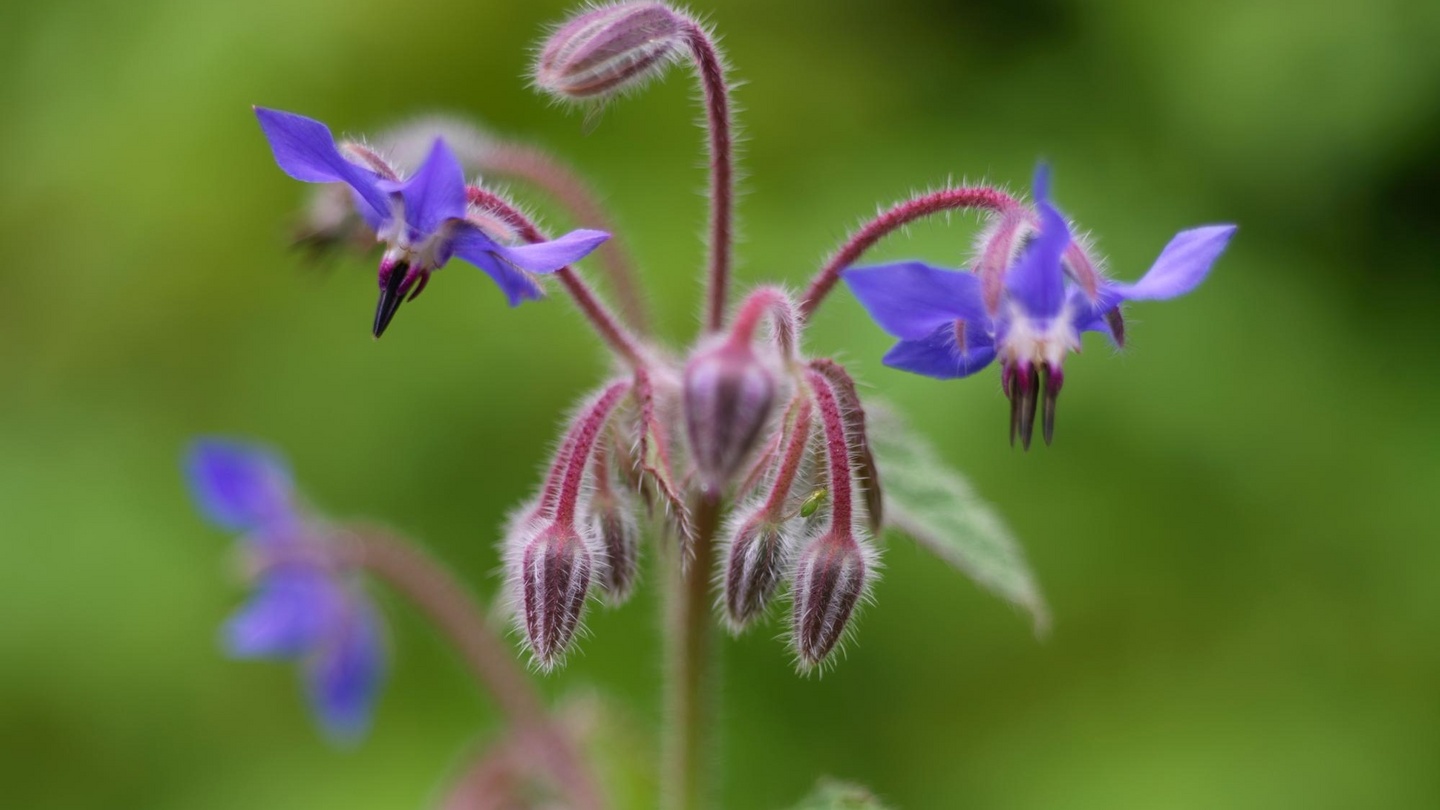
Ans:
{"label": "blurred brownish-pink curved stem of the out-of-focus lower left flower", "polygon": [[517,736],[530,741],[536,754],[546,760],[575,806],[588,810],[603,807],[599,787],[573,741],[550,719],[540,696],[469,592],[418,548],[384,530],[351,529],[346,540],[340,549],[346,562],[383,579],[449,636],[475,680],[500,703]]}

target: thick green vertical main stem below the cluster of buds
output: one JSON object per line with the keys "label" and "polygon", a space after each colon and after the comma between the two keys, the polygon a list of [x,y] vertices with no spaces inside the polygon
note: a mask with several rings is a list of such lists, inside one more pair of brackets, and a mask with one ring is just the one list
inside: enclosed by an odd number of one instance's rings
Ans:
{"label": "thick green vertical main stem below the cluster of buds", "polygon": [[694,540],[687,549],[688,565],[680,561],[665,628],[668,690],[661,798],[667,810],[698,810],[706,806],[710,788],[706,771],[716,703],[710,582],[720,528],[717,494],[701,494],[694,525]]}

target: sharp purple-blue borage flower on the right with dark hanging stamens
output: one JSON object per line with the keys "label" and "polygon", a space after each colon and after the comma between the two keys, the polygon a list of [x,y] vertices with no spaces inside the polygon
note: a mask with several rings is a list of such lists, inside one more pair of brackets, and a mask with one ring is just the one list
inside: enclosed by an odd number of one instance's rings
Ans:
{"label": "sharp purple-blue borage flower on the right with dark hanging stamens", "polygon": [[[1143,278],[1133,284],[1096,278],[1090,295],[1071,272],[1067,261],[1070,228],[1050,205],[1047,192],[1048,170],[1040,166],[1034,182],[1038,226],[1031,226],[1028,244],[1004,267],[998,295],[985,294],[986,284],[979,274],[917,261],[844,272],[870,317],[900,339],[884,357],[887,366],[955,379],[998,357],[1001,382],[1011,401],[1011,442],[1018,432],[1027,450],[1041,386],[1045,442],[1054,435],[1056,398],[1064,380],[1061,365],[1066,355],[1080,350],[1080,334],[1103,331],[1122,346],[1120,304],[1189,293],[1205,278],[1236,232],[1234,225],[1181,231]],[[989,252],[989,246],[985,251]]]}

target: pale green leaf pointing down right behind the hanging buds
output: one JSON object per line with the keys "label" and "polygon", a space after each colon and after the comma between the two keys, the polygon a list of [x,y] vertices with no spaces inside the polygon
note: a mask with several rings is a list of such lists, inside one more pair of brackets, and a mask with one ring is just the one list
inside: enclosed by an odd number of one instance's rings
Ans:
{"label": "pale green leaf pointing down right behind the hanging buds", "polygon": [[1043,636],[1050,627],[1050,610],[1005,522],[891,408],[871,399],[867,411],[870,444],[884,487],[886,528],[1025,608],[1035,633]]}

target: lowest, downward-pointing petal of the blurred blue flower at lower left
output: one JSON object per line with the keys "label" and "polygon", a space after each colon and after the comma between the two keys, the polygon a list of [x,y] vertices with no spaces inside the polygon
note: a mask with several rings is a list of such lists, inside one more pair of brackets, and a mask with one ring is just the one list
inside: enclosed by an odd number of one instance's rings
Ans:
{"label": "lowest, downward-pointing petal of the blurred blue flower at lower left", "polygon": [[351,595],[348,607],[338,633],[305,669],[310,703],[337,742],[354,742],[370,729],[374,698],[384,680],[379,617],[360,595]]}

